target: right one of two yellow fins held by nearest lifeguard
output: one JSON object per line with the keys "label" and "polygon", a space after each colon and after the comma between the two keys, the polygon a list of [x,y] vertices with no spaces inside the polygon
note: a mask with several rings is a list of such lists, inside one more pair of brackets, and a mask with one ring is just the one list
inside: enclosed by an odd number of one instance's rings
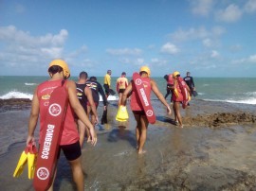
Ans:
{"label": "right one of two yellow fins held by nearest lifeguard", "polygon": [[32,144],[28,146],[28,153],[27,153],[27,172],[28,172],[28,179],[33,179],[35,174],[35,164],[37,158],[37,149]]}

